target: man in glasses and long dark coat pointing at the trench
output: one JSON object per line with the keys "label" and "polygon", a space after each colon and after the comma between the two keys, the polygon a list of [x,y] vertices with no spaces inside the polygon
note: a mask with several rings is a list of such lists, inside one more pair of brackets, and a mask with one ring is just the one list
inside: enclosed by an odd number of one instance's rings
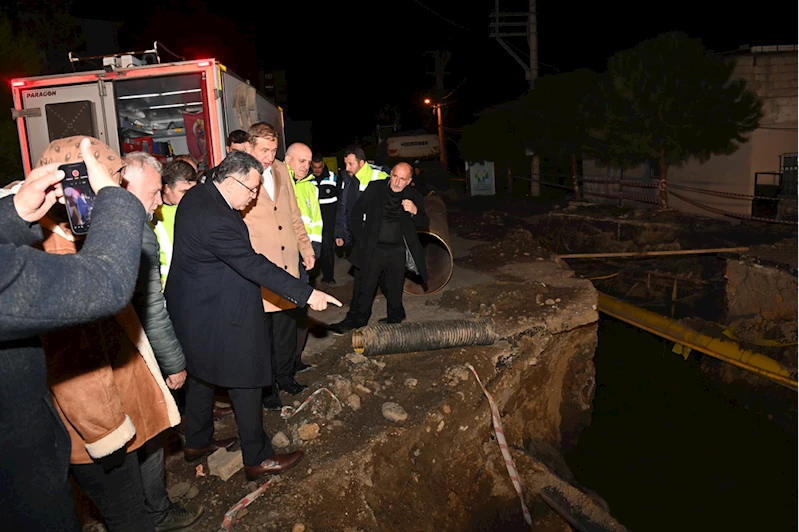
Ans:
{"label": "man in glasses and long dark coat pointing at the trench", "polygon": [[262,173],[252,155],[234,151],[212,178],[186,193],[175,216],[164,291],[189,373],[184,457],[199,460],[236,443],[212,439],[214,386],[227,388],[249,480],[281,473],[303,456],[276,454],[263,429],[261,393],[272,385],[272,368],[261,287],[318,311],[328,303],[341,306],[252,249],[239,211],[257,196]]}

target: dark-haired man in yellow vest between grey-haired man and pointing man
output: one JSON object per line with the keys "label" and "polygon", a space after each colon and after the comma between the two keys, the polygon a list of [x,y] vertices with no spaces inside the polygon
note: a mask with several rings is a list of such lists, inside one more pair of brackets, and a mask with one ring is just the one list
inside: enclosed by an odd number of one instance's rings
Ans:
{"label": "dark-haired man in yellow vest between grey-haired man and pointing man", "polygon": [[161,289],[166,285],[169,264],[172,262],[172,246],[175,238],[175,212],[183,195],[197,184],[197,172],[184,160],[171,161],[164,165],[161,172],[161,199],[163,205],[158,207],[153,216],[153,230],[158,237],[161,249]]}

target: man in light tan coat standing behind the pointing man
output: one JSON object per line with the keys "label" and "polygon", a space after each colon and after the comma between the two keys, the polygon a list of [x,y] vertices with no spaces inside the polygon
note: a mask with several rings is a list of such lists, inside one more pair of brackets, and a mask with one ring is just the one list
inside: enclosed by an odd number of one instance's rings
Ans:
{"label": "man in light tan coat standing behind the pointing man", "polygon": [[[291,176],[286,165],[275,159],[277,131],[265,122],[258,122],[250,126],[247,135],[248,152],[264,166],[258,197],[242,211],[250,242],[257,253],[299,278],[298,254],[306,270],[313,268],[316,257],[305,232]],[[274,368],[274,384],[271,394],[264,393],[264,407],[278,409],[281,406],[278,389],[294,395],[306,388],[294,379],[300,365],[296,354],[300,309],[266,288],[261,288],[261,296],[264,319],[272,338]]]}

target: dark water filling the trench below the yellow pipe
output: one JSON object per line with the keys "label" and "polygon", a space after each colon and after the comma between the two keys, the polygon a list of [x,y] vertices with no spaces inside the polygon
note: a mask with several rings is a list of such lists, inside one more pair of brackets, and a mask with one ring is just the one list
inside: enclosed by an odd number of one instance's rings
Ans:
{"label": "dark water filling the trench below the yellow pipe", "polygon": [[601,315],[593,421],[566,461],[633,531],[799,529],[797,435],[706,387],[698,356]]}

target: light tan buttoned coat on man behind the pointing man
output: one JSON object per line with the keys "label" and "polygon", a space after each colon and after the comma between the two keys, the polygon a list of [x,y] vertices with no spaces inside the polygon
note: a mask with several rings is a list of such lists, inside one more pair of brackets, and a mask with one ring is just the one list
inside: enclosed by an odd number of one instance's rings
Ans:
{"label": "light tan buttoned coat on man behind the pointing man", "polygon": [[[261,186],[258,197],[242,211],[242,216],[255,252],[299,279],[300,255],[303,259],[313,257],[313,247],[305,232],[288,168],[283,162],[275,160],[272,163],[272,176],[275,182],[274,200]],[[261,298],[265,312],[288,310],[296,306],[263,287]]]}

